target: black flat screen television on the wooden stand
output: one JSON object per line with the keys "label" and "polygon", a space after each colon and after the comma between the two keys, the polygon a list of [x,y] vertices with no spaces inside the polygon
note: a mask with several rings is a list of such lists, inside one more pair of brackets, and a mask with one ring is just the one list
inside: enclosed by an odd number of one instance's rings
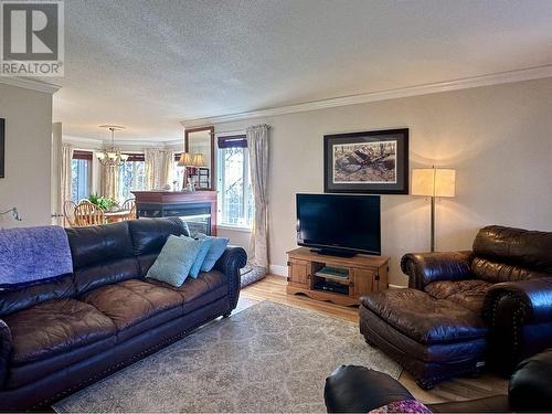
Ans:
{"label": "black flat screen television on the wooden stand", "polygon": [[379,195],[297,194],[297,244],[340,256],[381,255]]}

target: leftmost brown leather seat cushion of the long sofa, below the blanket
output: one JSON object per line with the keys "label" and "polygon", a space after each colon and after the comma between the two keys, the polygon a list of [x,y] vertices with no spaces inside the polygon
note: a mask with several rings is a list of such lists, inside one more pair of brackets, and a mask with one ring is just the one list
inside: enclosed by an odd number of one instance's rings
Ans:
{"label": "leftmost brown leather seat cushion of the long sofa, below the blanket", "polygon": [[13,364],[68,352],[116,333],[112,319],[75,299],[54,299],[3,318],[10,327]]}

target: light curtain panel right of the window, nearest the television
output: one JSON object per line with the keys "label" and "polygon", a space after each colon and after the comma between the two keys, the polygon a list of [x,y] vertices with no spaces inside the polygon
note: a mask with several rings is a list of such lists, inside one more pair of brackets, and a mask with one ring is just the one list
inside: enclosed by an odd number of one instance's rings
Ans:
{"label": "light curtain panel right of the window, nearest the television", "polygon": [[268,272],[268,132],[269,125],[246,129],[250,174],[255,200],[255,220],[251,232],[250,262]]}

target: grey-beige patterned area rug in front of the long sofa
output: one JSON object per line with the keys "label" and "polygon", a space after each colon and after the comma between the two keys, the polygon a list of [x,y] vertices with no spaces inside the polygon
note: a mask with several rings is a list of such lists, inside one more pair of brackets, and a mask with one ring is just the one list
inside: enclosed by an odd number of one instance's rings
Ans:
{"label": "grey-beige patterned area rug in front of the long sofa", "polygon": [[63,412],[326,412],[323,384],[340,364],[399,378],[357,323],[272,301],[188,338],[61,401]]}

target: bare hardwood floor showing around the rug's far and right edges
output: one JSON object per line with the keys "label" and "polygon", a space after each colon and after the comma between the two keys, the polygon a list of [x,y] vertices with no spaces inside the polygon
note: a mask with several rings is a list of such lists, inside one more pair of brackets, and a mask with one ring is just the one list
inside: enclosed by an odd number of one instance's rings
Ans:
{"label": "bare hardwood floor showing around the rug's far and right edges", "polygon": [[[355,307],[343,307],[330,302],[318,301],[300,295],[286,295],[286,279],[282,276],[268,275],[263,280],[247,286],[242,290],[240,300],[242,302],[272,300],[302,309],[332,315],[352,322],[359,321],[358,309]],[[492,374],[446,381],[431,391],[423,391],[420,389],[407,372],[403,372],[399,381],[401,381],[415,397],[424,403],[471,400],[506,394],[508,390],[508,382]]]}

